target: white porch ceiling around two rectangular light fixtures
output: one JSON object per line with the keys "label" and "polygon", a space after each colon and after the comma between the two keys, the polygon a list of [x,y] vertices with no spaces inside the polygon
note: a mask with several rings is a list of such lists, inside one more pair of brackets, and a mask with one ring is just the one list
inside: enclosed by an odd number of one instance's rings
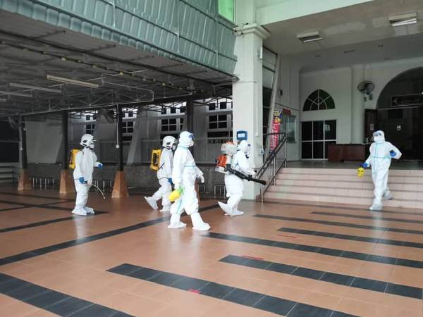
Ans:
{"label": "white porch ceiling around two rectangular light fixtures", "polygon": [[[418,23],[391,27],[389,16],[410,12],[417,12]],[[298,61],[302,70],[423,56],[423,0],[374,0],[264,27],[271,32],[264,45]],[[323,40],[297,39],[312,31]]]}

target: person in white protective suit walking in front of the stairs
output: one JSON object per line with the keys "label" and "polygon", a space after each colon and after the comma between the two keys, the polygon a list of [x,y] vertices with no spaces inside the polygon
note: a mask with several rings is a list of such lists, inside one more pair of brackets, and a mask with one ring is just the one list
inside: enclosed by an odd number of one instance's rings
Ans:
{"label": "person in white protective suit walking in front of the stairs", "polygon": [[388,170],[391,159],[400,159],[401,152],[390,142],[385,141],[385,133],[376,131],[373,134],[374,143],[370,146],[370,155],[362,166],[372,166],[372,180],[374,185],[374,200],[370,210],[381,210],[382,199],[392,199],[388,188]]}

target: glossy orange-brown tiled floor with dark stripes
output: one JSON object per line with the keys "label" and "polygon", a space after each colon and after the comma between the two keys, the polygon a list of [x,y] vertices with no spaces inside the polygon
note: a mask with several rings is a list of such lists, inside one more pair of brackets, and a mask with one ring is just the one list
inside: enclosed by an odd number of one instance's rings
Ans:
{"label": "glossy orange-brown tiled floor with dark stripes", "polygon": [[0,316],[423,317],[423,211],[204,200],[194,232],[140,195],[72,199],[0,188]]}

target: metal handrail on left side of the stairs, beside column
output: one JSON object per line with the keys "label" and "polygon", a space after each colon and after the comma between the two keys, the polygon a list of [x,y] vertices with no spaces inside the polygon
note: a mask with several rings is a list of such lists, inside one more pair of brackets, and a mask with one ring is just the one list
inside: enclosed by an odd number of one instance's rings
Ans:
{"label": "metal handrail on left side of the stairs, beside column", "polygon": [[[270,150],[270,138],[275,135],[278,136],[278,145],[275,149]],[[286,167],[286,141],[288,139],[286,137],[285,132],[266,133],[264,137],[269,138],[268,140],[266,140],[267,147],[266,151],[264,152],[264,156],[266,157],[266,159],[264,160],[262,168],[260,168],[257,172],[257,178],[259,180],[266,181],[266,185],[262,185],[262,188],[260,189],[260,196],[262,202],[264,198],[264,193],[267,191],[267,189],[269,189],[270,185],[276,185],[276,175],[278,175],[279,171],[281,170],[281,168],[283,168],[283,166]],[[278,157],[280,156],[278,154],[281,154],[281,149],[283,148],[285,149],[285,155],[283,156],[283,159],[278,160]]]}

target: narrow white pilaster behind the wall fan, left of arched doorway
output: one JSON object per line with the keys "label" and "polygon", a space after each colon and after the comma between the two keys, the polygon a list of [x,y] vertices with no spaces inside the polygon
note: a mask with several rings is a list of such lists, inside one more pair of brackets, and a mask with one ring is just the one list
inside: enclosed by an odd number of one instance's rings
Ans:
{"label": "narrow white pilaster behind the wall fan, left of arched doorway", "polygon": [[357,86],[365,79],[364,65],[351,68],[351,143],[364,142],[364,94]]}

